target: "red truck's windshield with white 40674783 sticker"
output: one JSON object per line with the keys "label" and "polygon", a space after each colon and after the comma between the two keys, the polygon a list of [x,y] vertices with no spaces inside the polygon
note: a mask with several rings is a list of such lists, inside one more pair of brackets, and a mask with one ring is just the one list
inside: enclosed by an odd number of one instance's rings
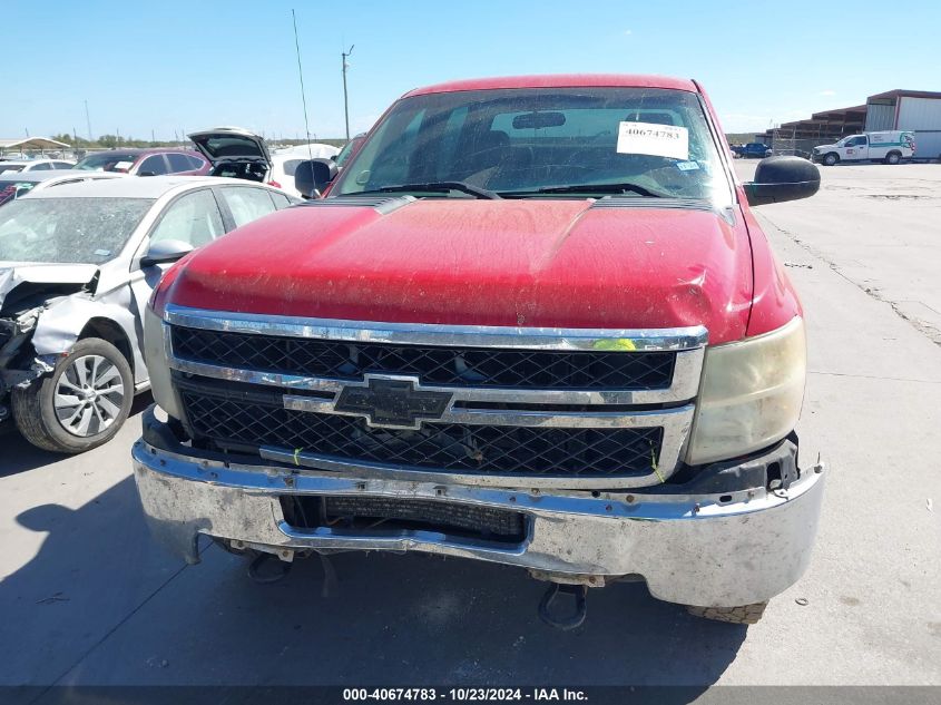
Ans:
{"label": "red truck's windshield with white 40674783 sticker", "polygon": [[[563,188],[584,198],[619,193],[611,187],[627,184],[639,187],[625,189],[631,197],[732,200],[696,95],[649,88],[499,89],[405,98],[369,137],[331,195],[442,183],[503,197],[547,197],[547,189],[560,197]],[[592,186],[608,188],[596,193]],[[469,197],[458,189],[443,193]]]}

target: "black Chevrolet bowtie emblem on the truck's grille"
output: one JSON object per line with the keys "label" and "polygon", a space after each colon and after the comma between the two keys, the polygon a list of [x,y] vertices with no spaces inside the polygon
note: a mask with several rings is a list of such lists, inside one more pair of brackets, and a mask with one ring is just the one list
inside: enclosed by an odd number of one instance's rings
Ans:
{"label": "black Chevrolet bowtie emblem on the truck's grille", "polygon": [[365,385],[344,386],[333,410],[365,417],[371,427],[418,429],[422,419],[441,418],[451,394],[415,389],[415,382],[412,379],[367,376]]}

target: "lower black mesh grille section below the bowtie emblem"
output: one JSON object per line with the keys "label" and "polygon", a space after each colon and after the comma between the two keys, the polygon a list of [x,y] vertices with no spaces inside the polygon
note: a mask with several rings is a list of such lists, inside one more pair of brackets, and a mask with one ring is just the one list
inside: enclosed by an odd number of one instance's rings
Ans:
{"label": "lower black mesh grille section below the bowtie emblem", "polygon": [[663,429],[550,429],[425,423],[418,431],[369,428],[362,419],[293,411],[262,399],[227,399],[182,385],[197,440],[226,449],[275,445],[353,461],[431,471],[531,477],[648,474]]}

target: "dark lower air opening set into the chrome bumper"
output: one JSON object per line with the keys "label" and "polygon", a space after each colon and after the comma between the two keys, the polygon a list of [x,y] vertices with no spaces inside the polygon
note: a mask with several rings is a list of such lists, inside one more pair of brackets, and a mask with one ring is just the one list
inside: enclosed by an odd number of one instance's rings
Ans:
{"label": "dark lower air opening set into the chrome bumper", "polygon": [[451,536],[472,536],[503,542],[526,539],[522,512],[401,497],[314,497],[290,495],[281,498],[291,526],[302,529],[329,527],[333,530],[375,533],[394,529],[429,529]]}

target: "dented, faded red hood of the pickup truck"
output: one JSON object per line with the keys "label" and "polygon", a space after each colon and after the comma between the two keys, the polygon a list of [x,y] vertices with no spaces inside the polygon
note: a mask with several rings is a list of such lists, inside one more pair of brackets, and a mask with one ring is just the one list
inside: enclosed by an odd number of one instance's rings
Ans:
{"label": "dented, faded red hood of the pickup truck", "polygon": [[729,214],[630,197],[381,200],[327,198],[239,228],[190,256],[167,301],[403,323],[703,324],[713,344],[745,334],[751,248]]}

